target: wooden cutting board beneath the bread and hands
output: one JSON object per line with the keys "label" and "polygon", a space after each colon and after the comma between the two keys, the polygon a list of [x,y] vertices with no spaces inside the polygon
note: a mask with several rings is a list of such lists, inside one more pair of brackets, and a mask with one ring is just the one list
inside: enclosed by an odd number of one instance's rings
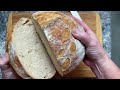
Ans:
{"label": "wooden cutting board beneath the bread and hands", "polygon": [[[70,14],[69,12],[65,12],[65,13]],[[99,14],[96,12],[79,12],[79,14],[82,20],[95,32],[98,40],[102,44],[102,29],[101,29]],[[31,13],[28,12],[11,13],[8,18],[7,30],[9,30],[21,17],[30,18],[31,17],[30,15]],[[54,77],[55,78],[60,77],[60,75],[57,73]],[[95,75],[88,66],[86,66],[83,62],[81,62],[80,65],[75,70],[73,70],[65,77],[81,78],[81,77],[95,77]]]}

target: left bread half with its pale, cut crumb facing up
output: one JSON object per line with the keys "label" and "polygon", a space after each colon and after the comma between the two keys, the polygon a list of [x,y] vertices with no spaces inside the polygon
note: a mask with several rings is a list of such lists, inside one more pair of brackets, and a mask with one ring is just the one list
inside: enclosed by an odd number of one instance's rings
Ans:
{"label": "left bread half with its pale, cut crumb facing up", "polygon": [[12,61],[13,64],[11,65],[15,68],[16,63],[18,68],[23,67],[16,70],[19,75],[23,75],[20,73],[24,70],[28,75],[24,72],[23,76],[30,76],[34,79],[50,79],[55,75],[56,70],[36,33],[31,19],[21,18],[14,26],[13,32],[9,33],[8,36],[11,37],[10,45],[8,45],[10,56],[14,57],[12,59],[17,59],[19,62],[16,62],[21,64],[18,65],[15,61]]}

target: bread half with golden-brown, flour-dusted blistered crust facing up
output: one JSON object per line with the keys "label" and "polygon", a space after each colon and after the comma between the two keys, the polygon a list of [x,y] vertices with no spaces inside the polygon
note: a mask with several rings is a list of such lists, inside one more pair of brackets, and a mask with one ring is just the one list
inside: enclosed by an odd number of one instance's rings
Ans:
{"label": "bread half with golden-brown, flour-dusted blistered crust facing up", "polygon": [[84,29],[70,16],[56,11],[39,11],[32,15],[36,31],[60,75],[74,70],[85,56],[83,44],[71,31]]}

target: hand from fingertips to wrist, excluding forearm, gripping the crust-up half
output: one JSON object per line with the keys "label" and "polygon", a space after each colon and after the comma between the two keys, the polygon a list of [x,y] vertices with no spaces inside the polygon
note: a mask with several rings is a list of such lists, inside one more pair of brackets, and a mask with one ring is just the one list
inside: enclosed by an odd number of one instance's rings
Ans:
{"label": "hand from fingertips to wrist, excluding forearm, gripping the crust-up half", "polygon": [[72,31],[73,36],[80,40],[86,47],[84,63],[90,67],[94,66],[95,63],[104,63],[104,59],[107,57],[107,54],[98,41],[95,33],[84,22],[75,17],[73,17],[73,19],[85,30],[85,32],[80,30]]}

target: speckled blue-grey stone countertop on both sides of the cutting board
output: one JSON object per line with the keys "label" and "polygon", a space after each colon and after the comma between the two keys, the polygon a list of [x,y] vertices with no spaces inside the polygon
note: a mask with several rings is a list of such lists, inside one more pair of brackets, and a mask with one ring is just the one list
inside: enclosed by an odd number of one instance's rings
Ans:
{"label": "speckled blue-grey stone countertop on both sides of the cutting board", "polygon": [[[17,12],[17,11],[16,11]],[[111,57],[111,12],[97,11],[101,18],[103,32],[103,47]],[[5,33],[8,16],[11,11],[0,11],[0,57],[5,53]],[[1,75],[0,75],[1,77]]]}

